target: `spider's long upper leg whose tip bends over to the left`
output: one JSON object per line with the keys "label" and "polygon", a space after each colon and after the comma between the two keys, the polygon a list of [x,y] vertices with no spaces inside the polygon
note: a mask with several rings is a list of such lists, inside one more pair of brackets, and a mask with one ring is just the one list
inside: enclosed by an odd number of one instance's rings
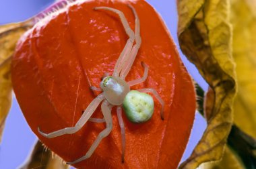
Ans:
{"label": "spider's long upper leg whose tip bends over to the left", "polygon": [[121,22],[123,23],[123,27],[125,28],[126,34],[129,36],[129,40],[127,40],[125,47],[123,48],[123,51],[121,52],[117,63],[115,64],[113,76],[119,76],[119,73],[121,71],[121,68],[123,67],[123,64],[127,61],[129,57],[129,53],[131,52],[131,48],[133,47],[133,42],[135,40],[135,35],[133,30],[131,30],[131,27],[129,26],[129,23],[127,19],[125,18],[125,15],[122,11],[119,11],[117,9],[111,8],[111,7],[95,7],[94,9],[104,9],[107,11],[113,11],[117,13],[121,19]]}

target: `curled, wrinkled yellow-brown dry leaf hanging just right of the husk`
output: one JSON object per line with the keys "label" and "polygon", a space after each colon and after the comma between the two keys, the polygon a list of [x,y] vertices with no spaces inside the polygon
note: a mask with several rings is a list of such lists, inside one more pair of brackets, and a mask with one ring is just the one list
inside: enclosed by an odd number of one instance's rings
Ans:
{"label": "curled, wrinkled yellow-brown dry leaf hanging just right of the husk", "polygon": [[231,53],[228,1],[177,1],[181,50],[212,88],[206,99],[207,129],[181,168],[220,160],[232,125],[236,76]]}

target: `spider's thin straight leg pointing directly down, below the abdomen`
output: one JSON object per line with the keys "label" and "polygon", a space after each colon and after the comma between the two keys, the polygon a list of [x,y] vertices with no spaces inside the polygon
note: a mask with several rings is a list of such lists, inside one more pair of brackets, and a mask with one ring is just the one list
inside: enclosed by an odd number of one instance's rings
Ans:
{"label": "spider's thin straight leg pointing directly down, below the abdomen", "polygon": [[121,139],[122,139],[122,162],[125,162],[125,125],[123,124],[122,118],[122,108],[117,107],[117,117],[121,129]]}

